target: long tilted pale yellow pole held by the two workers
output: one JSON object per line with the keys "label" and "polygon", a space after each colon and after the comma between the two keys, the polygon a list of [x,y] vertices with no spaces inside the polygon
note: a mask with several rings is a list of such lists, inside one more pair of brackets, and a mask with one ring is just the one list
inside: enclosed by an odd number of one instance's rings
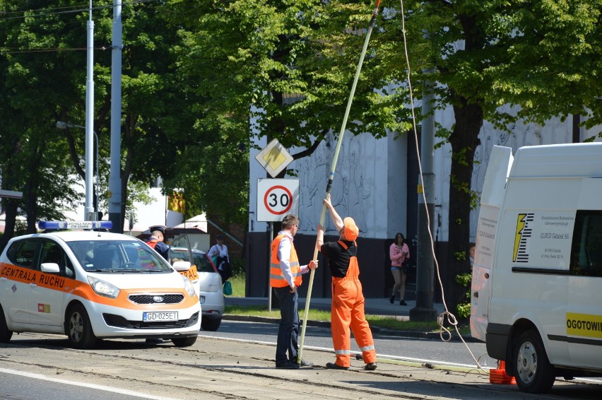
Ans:
{"label": "long tilted pale yellow pole held by the two workers", "polygon": [[[380,0],[377,0],[376,6],[374,6],[374,12],[372,12],[372,19],[370,20],[370,27],[368,28],[368,32],[366,33],[366,39],[364,40],[364,47],[362,47],[362,54],[360,54],[360,62],[358,63],[358,69],[355,71],[355,78],[353,78],[353,85],[351,86],[351,92],[349,93],[349,99],[347,100],[347,108],[345,110],[345,116],[343,117],[343,123],[341,124],[341,131],[338,133],[338,142],[336,143],[336,149],[334,151],[334,157],[332,159],[332,168],[328,178],[328,184],[326,184],[326,196],[324,199],[328,197],[330,194],[330,190],[332,187],[332,181],[334,180],[334,172],[336,170],[336,163],[338,161],[338,152],[341,150],[341,143],[343,143],[343,134],[345,134],[345,129],[347,127],[347,119],[349,117],[349,111],[351,110],[351,103],[353,102],[353,95],[355,95],[355,88],[358,86],[358,80],[360,78],[360,71],[362,71],[362,64],[364,63],[364,57],[366,55],[366,50],[368,48],[368,42],[370,42],[370,35],[372,35],[372,28],[374,28],[374,23],[376,22],[376,18],[378,16],[378,7],[380,4]],[[326,205],[322,204],[322,212],[320,215],[320,225],[324,225],[324,218],[326,217]],[[312,259],[318,258],[318,247],[316,240],[316,247],[314,248],[314,257]],[[309,273],[309,287],[307,288],[307,300],[305,300],[305,314],[303,316],[303,324],[301,328],[301,339],[299,342],[299,354],[297,358],[297,363],[301,363],[301,355],[303,353],[303,342],[305,341],[305,329],[307,328],[307,319],[309,317],[309,302],[312,298],[312,288],[314,286],[314,269]]]}

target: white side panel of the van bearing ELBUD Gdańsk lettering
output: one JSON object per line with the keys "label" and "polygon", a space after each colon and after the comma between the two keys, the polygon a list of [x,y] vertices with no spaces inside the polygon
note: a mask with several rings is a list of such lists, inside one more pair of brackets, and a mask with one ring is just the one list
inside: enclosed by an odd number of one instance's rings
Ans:
{"label": "white side panel of the van bearing ELBUD Gda\u0144sk lettering", "polygon": [[490,322],[533,324],[550,363],[569,363],[569,261],[580,179],[509,178],[497,237]]}

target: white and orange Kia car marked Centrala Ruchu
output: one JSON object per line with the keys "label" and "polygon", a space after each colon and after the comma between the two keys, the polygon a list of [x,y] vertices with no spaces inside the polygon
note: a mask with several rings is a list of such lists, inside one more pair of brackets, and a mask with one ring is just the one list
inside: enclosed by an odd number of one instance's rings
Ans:
{"label": "white and orange Kia car marked Centrala Ruchu", "polygon": [[[135,237],[90,230],[106,224],[39,223],[52,231],[8,242],[0,255],[0,343],[13,332],[37,332],[65,334],[75,348],[97,338],[194,344],[199,296],[178,272],[189,261],[171,266]],[[74,228],[88,230],[57,230]]]}

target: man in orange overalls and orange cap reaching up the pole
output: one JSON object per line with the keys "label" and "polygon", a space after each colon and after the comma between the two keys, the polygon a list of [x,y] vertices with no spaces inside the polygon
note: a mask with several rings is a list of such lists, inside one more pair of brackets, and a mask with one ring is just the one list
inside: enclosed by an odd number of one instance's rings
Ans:
{"label": "man in orange overalls and orange cap reaching up the pole", "polygon": [[353,337],[362,351],[365,370],[376,370],[376,351],[370,325],[364,314],[364,295],[360,283],[360,269],[358,267],[357,246],[360,229],[355,225],[353,218],[342,220],[336,213],[330,200],[330,194],[324,199],[326,208],[329,209],[332,221],[339,233],[337,242],[324,243],[324,227],[318,225],[318,238],[316,245],[320,252],[329,259],[332,276],[332,305],[331,329],[332,343],[336,361],[326,363],[326,368],[334,370],[348,370],[351,365],[351,337]]}

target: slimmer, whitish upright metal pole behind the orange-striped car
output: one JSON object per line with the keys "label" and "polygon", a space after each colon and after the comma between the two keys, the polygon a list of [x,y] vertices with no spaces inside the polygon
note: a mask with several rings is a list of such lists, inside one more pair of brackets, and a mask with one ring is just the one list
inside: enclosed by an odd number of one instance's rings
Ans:
{"label": "slimmer, whitish upright metal pole behind the orange-striped car", "polygon": [[87,45],[87,78],[85,82],[85,209],[84,219],[94,220],[92,214],[92,172],[94,151],[94,21],[92,20],[92,0],[90,0],[90,12],[87,23],[88,45]]}

